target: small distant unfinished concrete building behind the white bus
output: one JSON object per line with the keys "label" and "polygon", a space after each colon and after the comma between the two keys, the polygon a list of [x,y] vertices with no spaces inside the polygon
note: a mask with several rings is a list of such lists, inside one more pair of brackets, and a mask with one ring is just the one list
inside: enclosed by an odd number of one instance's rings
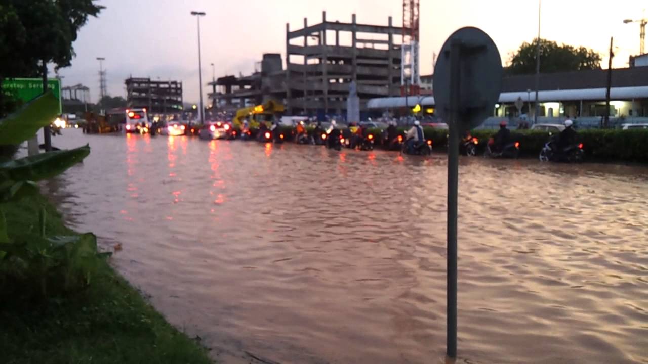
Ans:
{"label": "small distant unfinished concrete building behind the white bus", "polygon": [[150,114],[176,114],[182,111],[182,82],[128,78],[126,106],[146,108]]}

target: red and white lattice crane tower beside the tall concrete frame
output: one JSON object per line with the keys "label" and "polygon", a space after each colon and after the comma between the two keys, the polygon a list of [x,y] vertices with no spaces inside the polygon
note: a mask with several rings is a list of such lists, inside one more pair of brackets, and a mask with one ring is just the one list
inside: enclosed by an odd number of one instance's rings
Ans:
{"label": "red and white lattice crane tower beside the tall concrete frame", "polygon": [[403,40],[400,85],[403,96],[418,95],[419,73],[419,0],[403,0]]}

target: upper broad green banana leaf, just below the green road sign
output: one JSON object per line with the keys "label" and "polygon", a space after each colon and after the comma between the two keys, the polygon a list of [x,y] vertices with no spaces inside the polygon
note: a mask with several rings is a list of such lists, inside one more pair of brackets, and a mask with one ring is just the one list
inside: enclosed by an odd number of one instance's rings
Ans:
{"label": "upper broad green banana leaf, just below the green road sign", "polygon": [[20,144],[51,124],[58,115],[58,100],[50,92],[25,104],[0,120],[0,144]]}

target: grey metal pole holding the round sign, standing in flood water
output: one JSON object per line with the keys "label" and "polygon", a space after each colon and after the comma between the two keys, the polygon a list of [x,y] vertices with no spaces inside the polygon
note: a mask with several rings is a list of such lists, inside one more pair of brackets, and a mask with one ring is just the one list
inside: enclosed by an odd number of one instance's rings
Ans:
{"label": "grey metal pole holding the round sign, standing in flood water", "polygon": [[461,43],[450,45],[450,136],[448,140],[447,356],[457,358],[457,191],[459,189],[459,61]]}

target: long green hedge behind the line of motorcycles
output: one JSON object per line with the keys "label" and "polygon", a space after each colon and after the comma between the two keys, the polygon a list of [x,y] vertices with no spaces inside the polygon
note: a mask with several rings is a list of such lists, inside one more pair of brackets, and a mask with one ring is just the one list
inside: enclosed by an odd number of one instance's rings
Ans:
{"label": "long green hedge behind the line of motorcycles", "polygon": [[[405,133],[408,128],[399,128],[400,133]],[[294,128],[280,126],[286,141],[291,141]],[[437,152],[448,148],[448,130],[423,128],[426,139],[432,139],[432,147]],[[308,129],[312,132],[312,129]],[[380,145],[382,130],[371,129],[375,141]],[[253,131],[255,133],[255,131]],[[473,130],[470,134],[480,140],[480,152],[485,149],[489,138],[496,130]],[[544,144],[550,139],[546,131],[511,130],[515,141],[520,142],[520,155],[524,157],[537,157]],[[584,151],[588,159],[598,161],[629,161],[648,162],[648,130],[600,130],[588,129],[578,131],[579,142],[584,144]]]}

